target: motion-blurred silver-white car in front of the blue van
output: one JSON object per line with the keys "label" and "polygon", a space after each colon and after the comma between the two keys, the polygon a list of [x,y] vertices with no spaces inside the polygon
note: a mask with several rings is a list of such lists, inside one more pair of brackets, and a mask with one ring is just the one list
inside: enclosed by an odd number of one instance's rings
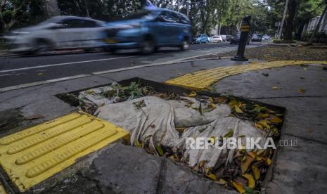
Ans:
{"label": "motion-blurred silver-white car in front of the blue van", "polygon": [[104,22],[75,16],[57,16],[33,27],[13,30],[4,39],[12,52],[47,53],[56,49],[100,47]]}

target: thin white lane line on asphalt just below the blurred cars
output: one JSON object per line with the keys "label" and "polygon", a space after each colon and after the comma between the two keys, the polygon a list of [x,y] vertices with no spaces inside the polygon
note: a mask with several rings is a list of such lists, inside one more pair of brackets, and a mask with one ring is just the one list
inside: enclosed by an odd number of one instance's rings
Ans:
{"label": "thin white lane line on asphalt just below the blurred cars", "polygon": [[33,66],[33,67],[23,67],[18,69],[11,69],[11,70],[1,70],[0,73],[4,72],[17,72],[22,70],[32,70],[32,69],[38,69],[43,67],[54,67],[54,66],[60,66],[60,65],[72,65],[72,64],[79,64],[79,63],[91,63],[91,62],[97,62],[97,61],[105,61],[105,60],[115,60],[115,59],[122,59],[122,58],[132,58],[134,56],[125,56],[125,57],[117,57],[117,58],[102,58],[102,59],[96,59],[96,60],[82,60],[82,61],[76,61],[76,62],[70,62],[70,63],[57,63],[57,64],[50,64],[50,65],[39,65],[39,66]]}

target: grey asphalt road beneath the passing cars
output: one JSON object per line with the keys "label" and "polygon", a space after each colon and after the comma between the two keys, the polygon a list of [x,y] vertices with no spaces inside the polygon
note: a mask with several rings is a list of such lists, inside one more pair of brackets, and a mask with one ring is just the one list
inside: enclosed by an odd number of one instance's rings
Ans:
{"label": "grey asphalt road beneath the passing cars", "polygon": [[[115,70],[122,67],[144,65],[174,58],[201,54],[202,50],[230,47],[230,44],[191,45],[188,51],[177,48],[162,48],[158,53],[142,56],[136,52],[110,54],[71,53],[52,56],[11,56],[0,58],[0,88],[61,77],[84,75],[91,72]],[[231,47],[236,47],[235,45]]]}

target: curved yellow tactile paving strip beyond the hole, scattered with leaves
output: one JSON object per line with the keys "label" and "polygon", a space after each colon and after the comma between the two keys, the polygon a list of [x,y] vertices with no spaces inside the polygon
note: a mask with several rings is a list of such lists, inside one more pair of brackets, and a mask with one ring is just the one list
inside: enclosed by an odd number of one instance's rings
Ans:
{"label": "curved yellow tactile paving strip beyond the hole, scattered with leaves", "polygon": [[217,67],[210,70],[188,73],[181,77],[170,79],[165,84],[181,86],[192,90],[208,89],[212,84],[218,82],[224,77],[237,75],[243,72],[263,70],[274,67],[283,67],[288,65],[310,65],[310,64],[327,64],[326,61],[303,61],[303,60],[286,60],[272,61],[266,63],[250,63],[249,65],[235,65],[229,67]]}

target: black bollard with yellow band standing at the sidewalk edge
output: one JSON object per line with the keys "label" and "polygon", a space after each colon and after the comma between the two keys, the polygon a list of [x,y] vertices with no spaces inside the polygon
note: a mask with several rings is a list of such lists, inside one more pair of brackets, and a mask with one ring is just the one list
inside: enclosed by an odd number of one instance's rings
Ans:
{"label": "black bollard with yellow band standing at the sidewalk edge", "polygon": [[238,49],[237,54],[231,60],[241,60],[241,61],[248,61],[248,58],[245,58],[244,52],[245,52],[245,46],[248,42],[249,33],[250,33],[250,20],[251,16],[245,16],[242,20],[241,25],[241,37],[240,41],[238,41]]}

